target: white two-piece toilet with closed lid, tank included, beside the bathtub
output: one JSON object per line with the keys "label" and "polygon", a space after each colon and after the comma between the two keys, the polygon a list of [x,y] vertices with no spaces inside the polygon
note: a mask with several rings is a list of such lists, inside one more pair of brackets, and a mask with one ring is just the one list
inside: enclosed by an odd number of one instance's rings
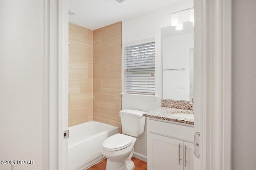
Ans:
{"label": "white two-piece toilet with closed lid, tank included, beside the bathtub", "polygon": [[131,158],[137,137],[144,132],[144,111],[125,109],[120,111],[122,131],[108,137],[102,144],[102,154],[107,158],[106,170],[133,170]]}

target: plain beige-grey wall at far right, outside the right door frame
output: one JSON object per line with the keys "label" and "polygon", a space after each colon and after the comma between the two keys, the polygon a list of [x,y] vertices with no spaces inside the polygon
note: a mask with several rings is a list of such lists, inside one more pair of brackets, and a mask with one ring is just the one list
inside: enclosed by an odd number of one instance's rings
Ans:
{"label": "plain beige-grey wall at far right, outside the right door frame", "polygon": [[232,170],[256,169],[255,16],[256,1],[232,1]]}

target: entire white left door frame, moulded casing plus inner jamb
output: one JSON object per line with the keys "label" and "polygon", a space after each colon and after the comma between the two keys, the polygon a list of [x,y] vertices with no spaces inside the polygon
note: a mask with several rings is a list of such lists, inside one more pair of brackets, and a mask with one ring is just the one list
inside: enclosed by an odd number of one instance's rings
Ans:
{"label": "entire white left door frame, moulded casing plus inner jamb", "polygon": [[44,0],[43,170],[68,170],[68,1]]}

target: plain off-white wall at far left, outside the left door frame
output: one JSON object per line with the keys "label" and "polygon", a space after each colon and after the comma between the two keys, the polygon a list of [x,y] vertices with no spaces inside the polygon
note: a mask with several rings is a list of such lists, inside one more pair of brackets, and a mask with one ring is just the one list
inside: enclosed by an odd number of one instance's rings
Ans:
{"label": "plain off-white wall at far left, outside the left door frame", "polygon": [[[0,160],[42,169],[43,1],[0,1]],[[10,170],[10,165],[0,165]]]}

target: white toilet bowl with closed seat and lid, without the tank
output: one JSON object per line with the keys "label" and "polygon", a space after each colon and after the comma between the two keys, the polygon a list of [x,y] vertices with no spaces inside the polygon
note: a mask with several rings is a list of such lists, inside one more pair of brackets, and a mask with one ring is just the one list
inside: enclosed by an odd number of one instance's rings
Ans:
{"label": "white toilet bowl with closed seat and lid, without the tank", "polygon": [[[116,134],[106,139],[102,145],[102,154],[107,158],[106,170],[133,170],[131,158],[136,137]],[[113,143],[112,143],[113,142]]]}

